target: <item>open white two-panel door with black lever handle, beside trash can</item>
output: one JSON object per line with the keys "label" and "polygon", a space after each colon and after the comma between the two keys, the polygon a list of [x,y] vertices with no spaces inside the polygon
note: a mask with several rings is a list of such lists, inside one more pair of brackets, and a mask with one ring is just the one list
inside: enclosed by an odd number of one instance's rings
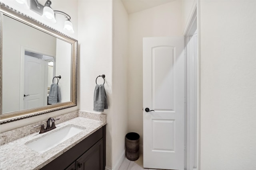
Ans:
{"label": "open white two-panel door with black lever handle, beside trash can", "polygon": [[183,36],[143,39],[144,168],[184,170],[183,49]]}

